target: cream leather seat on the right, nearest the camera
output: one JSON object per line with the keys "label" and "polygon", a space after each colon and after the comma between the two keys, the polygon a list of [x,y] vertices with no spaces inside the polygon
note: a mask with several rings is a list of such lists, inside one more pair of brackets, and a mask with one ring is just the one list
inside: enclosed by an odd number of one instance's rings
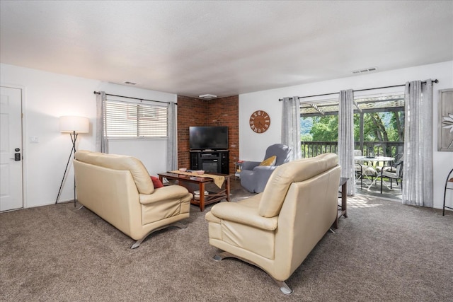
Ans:
{"label": "cream leather seat on the right, nearest the camera", "polygon": [[340,166],[325,153],[278,166],[264,192],[222,202],[206,214],[210,245],[260,267],[292,294],[285,281],[336,221]]}

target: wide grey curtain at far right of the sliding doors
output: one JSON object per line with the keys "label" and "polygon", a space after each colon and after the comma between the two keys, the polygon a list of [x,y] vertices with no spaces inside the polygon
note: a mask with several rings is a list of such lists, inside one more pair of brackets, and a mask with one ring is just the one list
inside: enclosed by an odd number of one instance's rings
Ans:
{"label": "wide grey curtain at far right of the sliding doors", "polygon": [[432,207],[432,80],[406,83],[403,204]]}

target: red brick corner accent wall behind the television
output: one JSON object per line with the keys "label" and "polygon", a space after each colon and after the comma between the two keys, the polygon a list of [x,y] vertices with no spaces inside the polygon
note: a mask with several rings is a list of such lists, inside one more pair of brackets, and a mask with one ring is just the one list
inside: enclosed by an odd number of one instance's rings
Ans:
{"label": "red brick corner accent wall behind the television", "polygon": [[189,127],[227,126],[229,174],[239,159],[239,95],[201,100],[178,95],[178,167],[190,167]]}

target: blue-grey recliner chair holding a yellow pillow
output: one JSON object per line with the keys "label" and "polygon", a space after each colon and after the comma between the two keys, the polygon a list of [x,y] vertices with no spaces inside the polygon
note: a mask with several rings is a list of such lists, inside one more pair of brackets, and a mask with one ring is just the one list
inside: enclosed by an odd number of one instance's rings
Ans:
{"label": "blue-grey recliner chair holding a yellow pillow", "polygon": [[289,146],[284,144],[273,144],[266,149],[264,159],[270,158],[271,156],[277,156],[275,165],[260,165],[260,161],[244,161],[241,170],[241,185],[248,192],[263,192],[273,170],[275,170],[277,165],[287,163],[291,156],[291,152],[292,150]]}

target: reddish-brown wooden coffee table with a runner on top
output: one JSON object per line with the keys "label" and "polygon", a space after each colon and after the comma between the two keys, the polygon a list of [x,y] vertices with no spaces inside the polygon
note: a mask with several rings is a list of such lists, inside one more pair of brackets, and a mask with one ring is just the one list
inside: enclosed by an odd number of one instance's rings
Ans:
{"label": "reddish-brown wooden coffee table with a runner on top", "polygon": [[221,175],[224,176],[225,181],[222,188],[219,188],[217,192],[209,192],[207,196],[202,194],[205,192],[205,185],[209,182],[214,182],[212,178],[200,178],[197,176],[192,175],[184,175],[184,174],[176,174],[171,172],[166,173],[158,173],[159,179],[162,181],[163,178],[168,180],[178,180],[178,185],[183,186],[189,190],[190,193],[193,194],[193,189],[190,187],[190,183],[198,184],[200,190],[200,200],[195,199],[195,194],[193,199],[190,201],[191,204],[195,204],[200,207],[200,211],[205,211],[205,206],[207,204],[213,204],[214,202],[219,202],[222,199],[226,199],[227,202],[230,201],[229,199],[229,189],[230,189],[230,175],[226,174],[219,174],[219,173],[209,173],[213,175]]}

